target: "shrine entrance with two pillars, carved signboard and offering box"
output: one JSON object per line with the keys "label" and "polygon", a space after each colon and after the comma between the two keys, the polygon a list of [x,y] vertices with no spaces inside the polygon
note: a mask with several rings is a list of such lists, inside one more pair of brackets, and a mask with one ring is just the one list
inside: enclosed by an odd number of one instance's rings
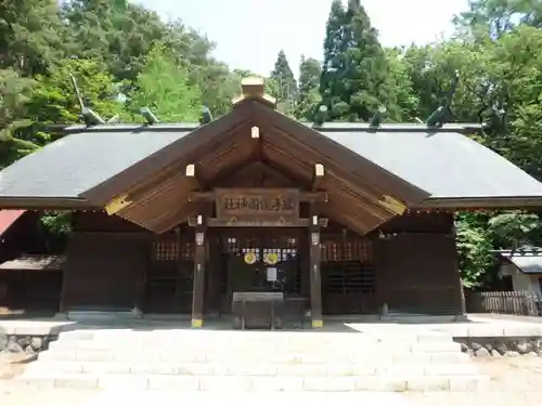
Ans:
{"label": "shrine entrance with two pillars, carved signboard and offering box", "polygon": [[[215,252],[220,253],[220,294],[216,296],[220,314],[232,314],[241,328],[282,327],[287,318],[302,326],[306,314],[311,315],[313,327],[322,326],[320,227],[327,219],[319,218],[317,201],[326,201],[325,192],[215,188],[190,197],[215,202],[214,218],[202,213],[189,220],[196,239],[193,326],[203,324],[204,241],[210,235],[218,239]],[[300,217],[301,211],[307,217]]]}

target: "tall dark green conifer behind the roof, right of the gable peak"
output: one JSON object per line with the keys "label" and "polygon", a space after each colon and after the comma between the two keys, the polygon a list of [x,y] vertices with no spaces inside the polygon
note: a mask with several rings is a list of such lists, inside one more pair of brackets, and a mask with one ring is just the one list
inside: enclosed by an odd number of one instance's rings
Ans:
{"label": "tall dark green conifer behind the roof, right of the gable peak", "polygon": [[332,118],[369,121],[380,105],[398,118],[388,60],[359,0],[332,4],[324,48],[321,91]]}

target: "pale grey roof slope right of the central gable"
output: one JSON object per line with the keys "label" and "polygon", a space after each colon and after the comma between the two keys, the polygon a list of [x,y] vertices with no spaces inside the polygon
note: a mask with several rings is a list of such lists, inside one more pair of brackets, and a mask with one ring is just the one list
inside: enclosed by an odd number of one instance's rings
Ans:
{"label": "pale grey roof slope right of the central gable", "polygon": [[542,183],[456,132],[322,132],[431,198],[542,197]]}

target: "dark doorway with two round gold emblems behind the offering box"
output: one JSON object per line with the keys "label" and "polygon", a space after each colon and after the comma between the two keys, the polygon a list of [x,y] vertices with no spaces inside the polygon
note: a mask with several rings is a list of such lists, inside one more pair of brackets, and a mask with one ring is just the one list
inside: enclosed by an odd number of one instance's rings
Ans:
{"label": "dark doorway with two round gold emblems behind the offering box", "polygon": [[300,296],[304,231],[224,228],[220,233],[220,312],[231,312],[234,292],[282,292],[291,298]]}

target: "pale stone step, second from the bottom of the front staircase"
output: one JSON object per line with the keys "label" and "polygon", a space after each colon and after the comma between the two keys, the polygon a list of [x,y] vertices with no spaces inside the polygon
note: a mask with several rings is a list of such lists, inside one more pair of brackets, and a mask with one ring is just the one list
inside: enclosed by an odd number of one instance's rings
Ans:
{"label": "pale stone step, second from the bottom of the front staircase", "polygon": [[39,362],[28,366],[29,372],[93,375],[188,375],[188,376],[280,376],[280,377],[361,377],[399,376],[469,376],[478,372],[470,363],[462,364],[255,364],[255,363],[133,363],[133,362]]}

